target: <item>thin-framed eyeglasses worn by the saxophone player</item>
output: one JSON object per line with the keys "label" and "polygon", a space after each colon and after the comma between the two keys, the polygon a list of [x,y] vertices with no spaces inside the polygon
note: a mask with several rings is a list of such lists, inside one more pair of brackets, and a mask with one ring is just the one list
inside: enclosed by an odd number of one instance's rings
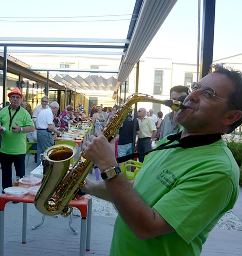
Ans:
{"label": "thin-framed eyeglasses worn by the saxophone player", "polygon": [[[233,102],[230,102],[228,100],[225,100],[219,96],[216,95],[216,92],[213,88],[206,86],[206,85],[201,85],[200,83],[197,82],[191,82],[190,87],[189,87],[189,92],[194,92],[195,90],[199,90],[201,94],[202,100],[205,102],[209,103],[211,102],[214,98],[229,102],[233,105],[235,105]],[[235,105],[236,106],[236,105]]]}

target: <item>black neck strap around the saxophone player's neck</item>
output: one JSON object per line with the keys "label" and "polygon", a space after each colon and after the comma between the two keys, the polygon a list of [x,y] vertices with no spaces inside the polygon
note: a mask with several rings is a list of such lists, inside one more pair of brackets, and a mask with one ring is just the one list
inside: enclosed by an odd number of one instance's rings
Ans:
{"label": "black neck strap around the saxophone player's neck", "polygon": [[[139,157],[139,156],[145,156],[145,155],[149,154],[150,152],[154,152],[156,150],[168,149],[168,148],[178,148],[178,147],[194,148],[194,147],[205,146],[205,145],[209,145],[209,144],[212,144],[212,143],[220,140],[221,136],[222,136],[222,134],[220,134],[220,133],[215,133],[215,134],[206,134],[206,135],[187,136],[187,137],[180,139],[181,135],[182,135],[182,132],[169,135],[167,137],[167,139],[169,141],[159,145],[155,149],[149,150],[144,153],[133,153],[133,154],[129,154],[126,156],[117,157],[116,160],[118,163],[122,163],[122,162],[128,161],[130,159]],[[177,144],[169,145],[170,143],[172,143],[176,140],[178,141]],[[169,146],[167,146],[167,145],[169,145]]]}

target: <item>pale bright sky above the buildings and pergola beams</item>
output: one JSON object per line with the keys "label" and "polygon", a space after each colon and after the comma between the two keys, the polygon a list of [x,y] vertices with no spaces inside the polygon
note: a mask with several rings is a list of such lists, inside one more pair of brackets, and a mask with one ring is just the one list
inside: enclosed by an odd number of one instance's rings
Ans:
{"label": "pale bright sky above the buildings and pergola beams", "polygon": [[[125,39],[131,16],[75,18],[97,22],[3,22],[2,17],[95,16],[133,13],[135,0],[11,0],[1,2],[1,37],[65,37]],[[201,0],[201,8],[202,8]],[[242,53],[241,0],[216,0],[214,60]],[[178,0],[144,53],[171,58],[173,62],[197,62],[198,0]],[[5,19],[6,20],[6,19]],[[33,20],[33,19],[31,19]],[[35,19],[36,20],[36,19]],[[42,19],[46,20],[46,19]],[[51,19],[49,19],[51,20]],[[73,20],[73,19],[58,19]],[[202,25],[202,11],[201,11]]]}

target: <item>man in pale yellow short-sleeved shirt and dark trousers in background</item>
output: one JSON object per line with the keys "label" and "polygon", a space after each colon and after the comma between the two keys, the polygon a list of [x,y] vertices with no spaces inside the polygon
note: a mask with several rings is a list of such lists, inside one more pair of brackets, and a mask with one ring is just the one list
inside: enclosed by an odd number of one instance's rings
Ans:
{"label": "man in pale yellow short-sleeved shirt and dark trousers in background", "polygon": [[[155,139],[157,129],[155,122],[146,115],[145,108],[140,108],[137,113],[139,117],[138,124],[140,126],[137,150],[138,153],[144,153],[151,150],[151,143]],[[139,156],[138,160],[143,162],[144,156]]]}

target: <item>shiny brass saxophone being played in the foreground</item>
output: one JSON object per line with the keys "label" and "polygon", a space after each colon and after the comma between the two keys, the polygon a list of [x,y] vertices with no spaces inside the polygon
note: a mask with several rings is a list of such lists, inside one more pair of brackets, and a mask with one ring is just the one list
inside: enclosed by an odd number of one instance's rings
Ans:
{"label": "shiny brass saxophone being played in the foreground", "polygon": [[[127,98],[123,107],[113,116],[112,120],[102,128],[102,132],[107,140],[116,136],[122,126],[131,106],[136,102],[154,102],[164,104],[172,110],[186,108],[180,101],[160,100],[147,94],[135,93]],[[78,160],[69,170],[70,160],[76,154],[76,149],[69,145],[59,144],[52,146],[44,152],[44,173],[42,184],[38,190],[34,204],[38,211],[45,215],[61,214],[67,217],[72,207],[69,203],[74,199],[79,189],[84,188],[84,181],[94,163],[86,156],[82,150]]]}

